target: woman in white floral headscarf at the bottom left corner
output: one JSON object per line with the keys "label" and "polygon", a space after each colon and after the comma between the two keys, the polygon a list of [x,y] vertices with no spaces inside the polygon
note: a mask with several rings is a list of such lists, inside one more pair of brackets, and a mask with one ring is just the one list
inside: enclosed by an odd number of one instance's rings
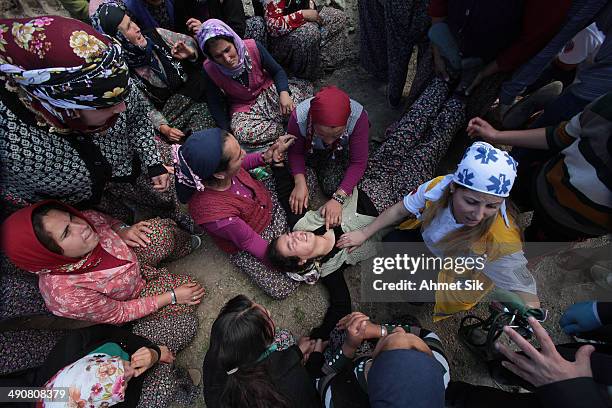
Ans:
{"label": "woman in white floral headscarf at the bottom left corner", "polygon": [[47,351],[41,367],[5,377],[3,385],[67,387],[65,406],[75,407],[165,408],[175,401],[190,404],[198,392],[184,371],[172,367],[174,355],[168,347],[121,327],[74,330]]}

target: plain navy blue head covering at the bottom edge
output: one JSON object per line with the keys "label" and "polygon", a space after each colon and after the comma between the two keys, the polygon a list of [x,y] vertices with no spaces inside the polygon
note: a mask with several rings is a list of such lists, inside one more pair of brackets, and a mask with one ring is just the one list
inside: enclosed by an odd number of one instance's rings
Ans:
{"label": "plain navy blue head covering at the bottom edge", "polygon": [[444,368],[417,350],[383,351],[368,373],[372,408],[443,408]]}

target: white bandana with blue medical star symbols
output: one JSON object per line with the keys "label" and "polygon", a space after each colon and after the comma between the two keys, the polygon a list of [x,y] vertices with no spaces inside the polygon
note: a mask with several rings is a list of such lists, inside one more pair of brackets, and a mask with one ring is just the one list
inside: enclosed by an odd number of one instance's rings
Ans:
{"label": "white bandana with blue medical star symbols", "polygon": [[[476,142],[468,147],[453,175],[453,182],[470,190],[508,197],[516,179],[518,163],[507,152],[497,149],[486,142]],[[500,212],[506,225],[506,202]]]}

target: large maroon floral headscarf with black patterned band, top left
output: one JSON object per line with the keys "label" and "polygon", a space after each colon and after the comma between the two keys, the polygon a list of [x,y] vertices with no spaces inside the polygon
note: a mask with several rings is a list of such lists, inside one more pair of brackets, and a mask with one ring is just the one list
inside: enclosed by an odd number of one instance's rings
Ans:
{"label": "large maroon floral headscarf with black patterned band, top left", "polygon": [[129,90],[119,44],[59,16],[0,19],[0,76],[60,123],[67,110],[108,108]]}

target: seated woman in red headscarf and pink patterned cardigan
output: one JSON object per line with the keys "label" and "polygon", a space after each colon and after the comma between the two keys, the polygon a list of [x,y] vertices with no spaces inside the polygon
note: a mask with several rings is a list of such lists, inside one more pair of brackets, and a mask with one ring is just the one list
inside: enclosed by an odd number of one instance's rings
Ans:
{"label": "seated woman in red headscarf and pink patterned cardigan", "polygon": [[157,265],[199,243],[168,219],[128,226],[53,200],[19,210],[2,224],[4,253],[38,275],[53,314],[96,323],[138,320],[135,333],[175,351],[195,335],[195,306],[204,289]]}

